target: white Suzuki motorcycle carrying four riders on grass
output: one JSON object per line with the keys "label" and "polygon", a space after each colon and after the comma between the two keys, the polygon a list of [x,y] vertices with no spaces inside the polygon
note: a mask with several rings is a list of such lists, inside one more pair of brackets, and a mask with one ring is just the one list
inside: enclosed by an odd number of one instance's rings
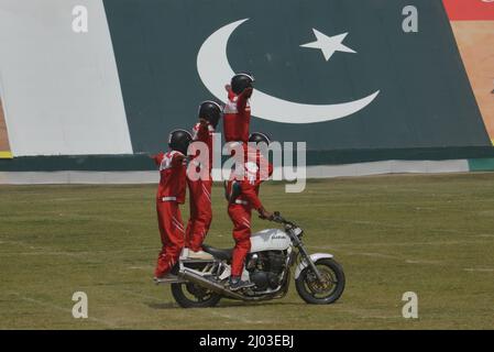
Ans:
{"label": "white Suzuki motorcycle carrying four riders on grass", "polygon": [[232,249],[221,250],[204,244],[210,260],[187,258],[184,249],[168,282],[172,295],[180,307],[205,308],[216,306],[221,298],[243,301],[279,299],[286,296],[290,268],[295,266],[295,287],[308,304],[329,305],[344,290],[342,266],[332,254],[308,254],[301,237],[304,230],[275,212],[273,220],[283,226],[252,234],[251,251],[245,258],[242,280],[255,286],[232,292],[228,287]]}

